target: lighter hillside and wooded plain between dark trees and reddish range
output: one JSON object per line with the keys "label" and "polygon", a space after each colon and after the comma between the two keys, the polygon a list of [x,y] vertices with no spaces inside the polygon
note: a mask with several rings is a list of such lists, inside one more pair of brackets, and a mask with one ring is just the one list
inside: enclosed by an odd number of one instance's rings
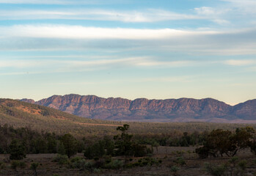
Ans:
{"label": "lighter hillside and wooded plain between dark trees and reddish range", "polygon": [[[123,123],[92,120],[37,104],[25,103],[19,100],[0,99],[0,125],[4,124],[13,125],[14,127],[29,126],[37,131],[54,132],[57,134],[72,133],[74,136],[93,140],[100,136],[116,135],[118,133],[116,131],[117,126]],[[173,133],[173,131],[211,131],[218,128],[234,131],[238,127],[246,126],[246,124],[227,125],[205,122],[128,122],[128,124],[130,125],[129,132],[140,135]],[[252,124],[252,126],[256,128],[256,124]]]}

